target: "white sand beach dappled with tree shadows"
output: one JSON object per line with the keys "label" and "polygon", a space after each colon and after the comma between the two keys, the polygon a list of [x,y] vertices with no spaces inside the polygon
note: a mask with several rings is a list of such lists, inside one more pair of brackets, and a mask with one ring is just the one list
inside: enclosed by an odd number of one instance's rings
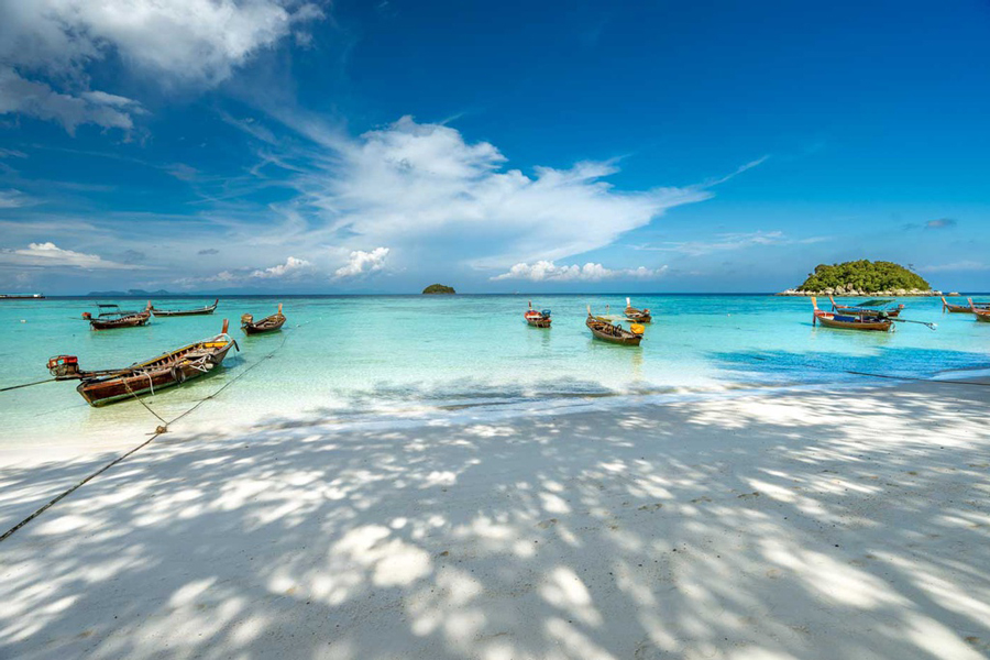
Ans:
{"label": "white sand beach dappled with tree shadows", "polygon": [[[190,418],[0,542],[0,657],[986,658],[988,419],[955,383]],[[7,455],[3,529],[113,455]]]}

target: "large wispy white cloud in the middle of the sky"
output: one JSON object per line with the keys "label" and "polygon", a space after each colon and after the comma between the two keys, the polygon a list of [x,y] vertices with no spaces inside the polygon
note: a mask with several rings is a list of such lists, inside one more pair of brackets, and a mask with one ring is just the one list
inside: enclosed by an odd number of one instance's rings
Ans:
{"label": "large wispy white cloud in the middle of the sky", "polygon": [[[404,117],[358,139],[298,122],[329,153],[292,182],[301,193],[288,212],[315,215],[329,240],[406,248],[479,268],[552,261],[608,245],[667,210],[713,196],[708,186],[618,191],[605,179],[614,162],[566,169],[506,169],[491,143]],[[436,253],[431,251],[436,250]]]}

